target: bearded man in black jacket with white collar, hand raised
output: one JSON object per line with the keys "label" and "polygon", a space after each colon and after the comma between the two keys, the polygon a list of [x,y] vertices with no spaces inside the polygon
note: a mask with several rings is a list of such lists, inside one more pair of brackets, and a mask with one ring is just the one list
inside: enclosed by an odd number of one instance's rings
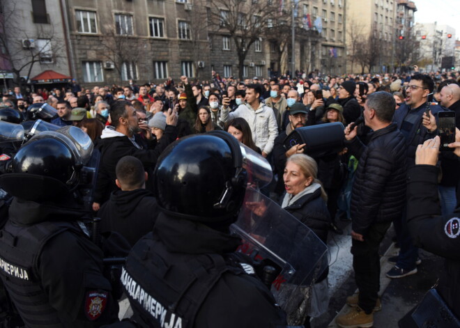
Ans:
{"label": "bearded man in black jacket with white collar, hand raised", "polygon": [[[158,157],[164,148],[177,138],[177,113],[174,110],[171,111],[171,109],[167,112],[167,126],[163,132],[162,139],[158,143],[152,137],[148,125],[145,123],[141,125],[147,148],[141,146],[140,135],[137,133],[141,129],[139,128],[136,110],[130,102],[126,100],[115,102],[111,107],[110,116],[112,125],[105,127],[100,141],[95,145],[102,154],[93,203],[93,210],[95,211],[99,210],[100,205],[107,201],[110,193],[117,189],[115,185],[115,168],[121,157],[134,156],[140,159],[146,172],[153,172]],[[151,187],[152,185],[149,184],[147,189],[151,189]]]}

